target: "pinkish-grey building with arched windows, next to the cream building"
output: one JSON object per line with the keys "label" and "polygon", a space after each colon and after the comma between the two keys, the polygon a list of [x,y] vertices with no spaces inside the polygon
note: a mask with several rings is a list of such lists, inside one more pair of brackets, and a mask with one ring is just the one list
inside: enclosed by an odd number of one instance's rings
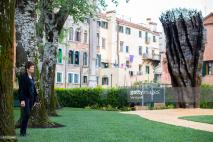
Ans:
{"label": "pinkish-grey building with arched windows, next to the cream building", "polygon": [[87,86],[89,74],[89,24],[74,23],[68,17],[63,39],[57,51],[55,87],[74,88]]}

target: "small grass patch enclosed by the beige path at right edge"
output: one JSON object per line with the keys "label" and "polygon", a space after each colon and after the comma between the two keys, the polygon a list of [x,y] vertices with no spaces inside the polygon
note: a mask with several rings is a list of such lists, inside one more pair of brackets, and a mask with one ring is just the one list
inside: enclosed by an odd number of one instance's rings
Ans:
{"label": "small grass patch enclosed by the beige path at right edge", "polygon": [[184,116],[184,117],[180,117],[180,119],[213,124],[213,115]]}

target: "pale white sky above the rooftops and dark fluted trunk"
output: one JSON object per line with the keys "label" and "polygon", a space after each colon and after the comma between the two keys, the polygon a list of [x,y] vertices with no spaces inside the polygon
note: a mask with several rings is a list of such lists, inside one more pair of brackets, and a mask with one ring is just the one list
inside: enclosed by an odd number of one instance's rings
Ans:
{"label": "pale white sky above the rooftops and dark fluted trunk", "polygon": [[128,3],[126,0],[118,0],[117,7],[111,1],[106,0],[107,11],[116,10],[118,16],[135,23],[145,23],[146,18],[151,18],[158,23],[158,31],[162,31],[159,17],[166,10],[179,7],[197,9],[204,17],[213,12],[213,0],[129,0]]}

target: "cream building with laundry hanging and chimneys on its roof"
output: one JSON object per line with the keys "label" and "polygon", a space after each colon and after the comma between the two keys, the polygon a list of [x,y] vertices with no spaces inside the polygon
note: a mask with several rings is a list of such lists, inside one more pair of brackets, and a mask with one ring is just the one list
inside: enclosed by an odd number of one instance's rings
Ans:
{"label": "cream building with laundry hanging and chimneys on its roof", "polygon": [[136,82],[159,81],[160,63],[157,24],[147,19],[135,24],[118,18],[115,11],[100,15],[98,21],[97,71],[100,86],[131,86]]}

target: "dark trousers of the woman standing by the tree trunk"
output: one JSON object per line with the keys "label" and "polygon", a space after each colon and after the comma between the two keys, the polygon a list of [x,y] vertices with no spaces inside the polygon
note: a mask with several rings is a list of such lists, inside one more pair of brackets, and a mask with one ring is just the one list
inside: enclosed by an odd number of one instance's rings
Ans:
{"label": "dark trousers of the woman standing by the tree trunk", "polygon": [[30,118],[30,112],[33,106],[33,99],[25,99],[25,107],[21,107],[21,128],[20,134],[26,134],[28,120]]}

